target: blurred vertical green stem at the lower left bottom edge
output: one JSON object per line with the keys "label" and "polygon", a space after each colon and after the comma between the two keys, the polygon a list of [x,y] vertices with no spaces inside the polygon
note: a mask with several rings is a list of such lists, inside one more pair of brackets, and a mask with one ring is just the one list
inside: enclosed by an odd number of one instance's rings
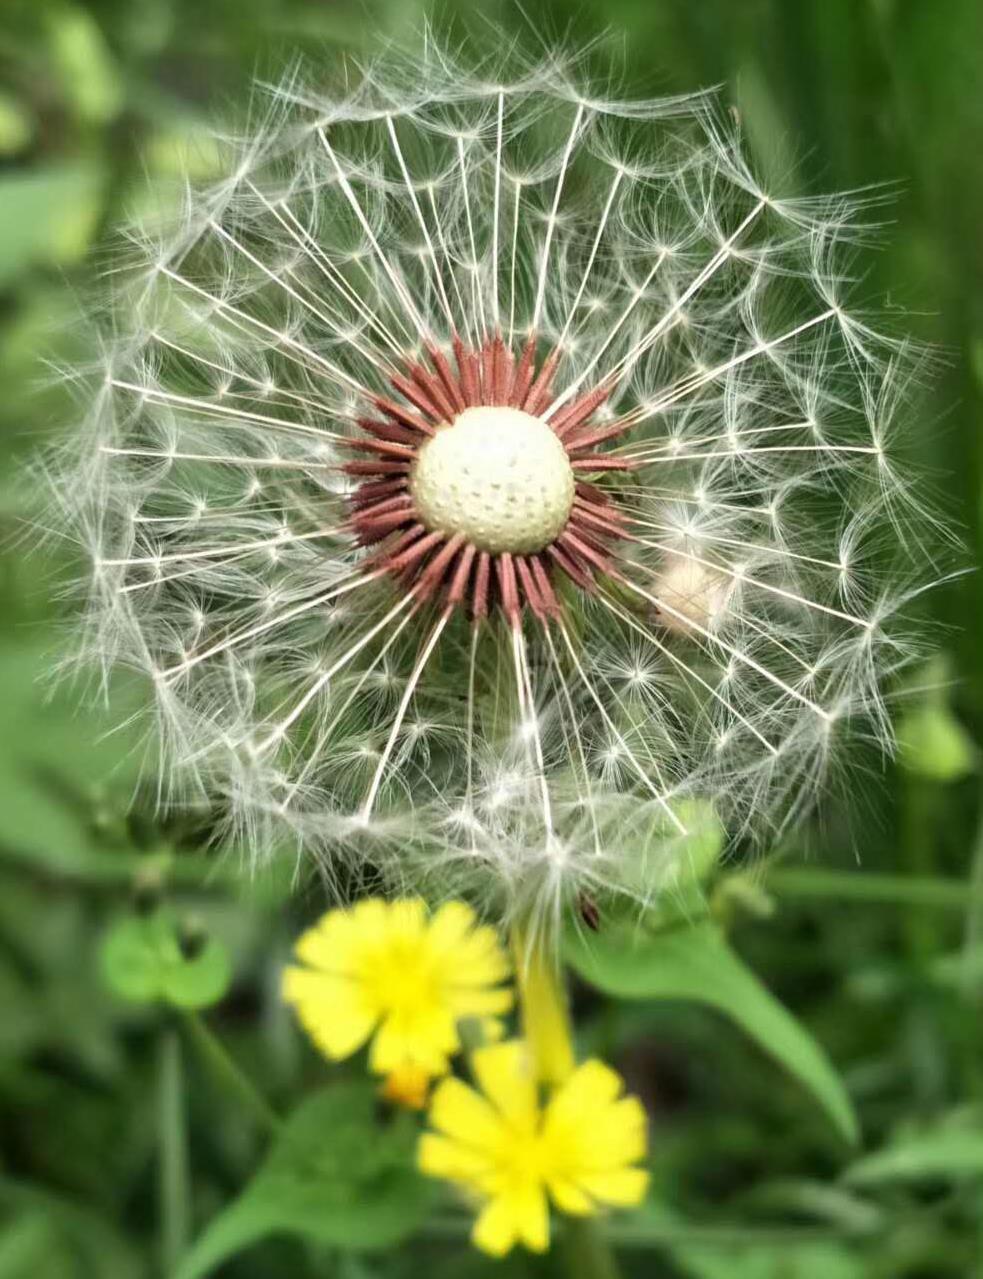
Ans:
{"label": "blurred vertical green stem at the lower left bottom edge", "polygon": [[184,1063],[178,1032],[161,1031],[157,1058],[157,1150],[161,1274],[167,1279],[190,1238],[190,1177]]}

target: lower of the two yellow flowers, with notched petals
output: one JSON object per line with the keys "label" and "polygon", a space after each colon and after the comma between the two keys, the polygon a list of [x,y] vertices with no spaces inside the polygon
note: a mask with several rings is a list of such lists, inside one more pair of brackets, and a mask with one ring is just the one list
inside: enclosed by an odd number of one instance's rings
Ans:
{"label": "lower of the two yellow flowers, with notched petals", "polygon": [[592,1059],[541,1104],[529,1053],[520,1041],[479,1049],[472,1058],[481,1091],[445,1079],[433,1094],[418,1164],[456,1182],[479,1211],[472,1241],[492,1256],[515,1243],[550,1246],[550,1200],[589,1216],[638,1204],[648,1173],[646,1114],[624,1081]]}

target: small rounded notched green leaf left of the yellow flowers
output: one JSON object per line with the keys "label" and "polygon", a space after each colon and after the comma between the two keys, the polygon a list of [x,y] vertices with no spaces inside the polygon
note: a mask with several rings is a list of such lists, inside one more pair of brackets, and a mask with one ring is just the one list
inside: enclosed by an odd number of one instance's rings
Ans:
{"label": "small rounded notched green leaf left of the yellow flowers", "polygon": [[118,920],[104,938],[100,958],[110,990],[132,1003],[162,999],[175,1008],[208,1008],[231,980],[225,946],[208,938],[194,954],[185,954],[167,911]]}

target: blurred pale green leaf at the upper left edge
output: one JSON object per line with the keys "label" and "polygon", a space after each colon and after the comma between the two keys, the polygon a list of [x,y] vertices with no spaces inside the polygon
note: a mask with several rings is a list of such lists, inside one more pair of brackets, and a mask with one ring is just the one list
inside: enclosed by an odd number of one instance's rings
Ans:
{"label": "blurred pale green leaf at the upper left edge", "polygon": [[37,262],[74,262],[88,248],[102,174],[75,161],[0,177],[0,288]]}

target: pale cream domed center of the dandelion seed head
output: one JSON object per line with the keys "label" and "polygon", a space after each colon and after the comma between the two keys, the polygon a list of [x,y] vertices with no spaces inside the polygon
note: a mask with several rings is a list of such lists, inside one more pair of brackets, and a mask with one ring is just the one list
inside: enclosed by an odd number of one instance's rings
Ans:
{"label": "pale cream domed center of the dandelion seed head", "polygon": [[482,551],[528,555],[562,532],[574,473],[562,443],[532,413],[468,408],[421,448],[409,482],[421,522]]}

